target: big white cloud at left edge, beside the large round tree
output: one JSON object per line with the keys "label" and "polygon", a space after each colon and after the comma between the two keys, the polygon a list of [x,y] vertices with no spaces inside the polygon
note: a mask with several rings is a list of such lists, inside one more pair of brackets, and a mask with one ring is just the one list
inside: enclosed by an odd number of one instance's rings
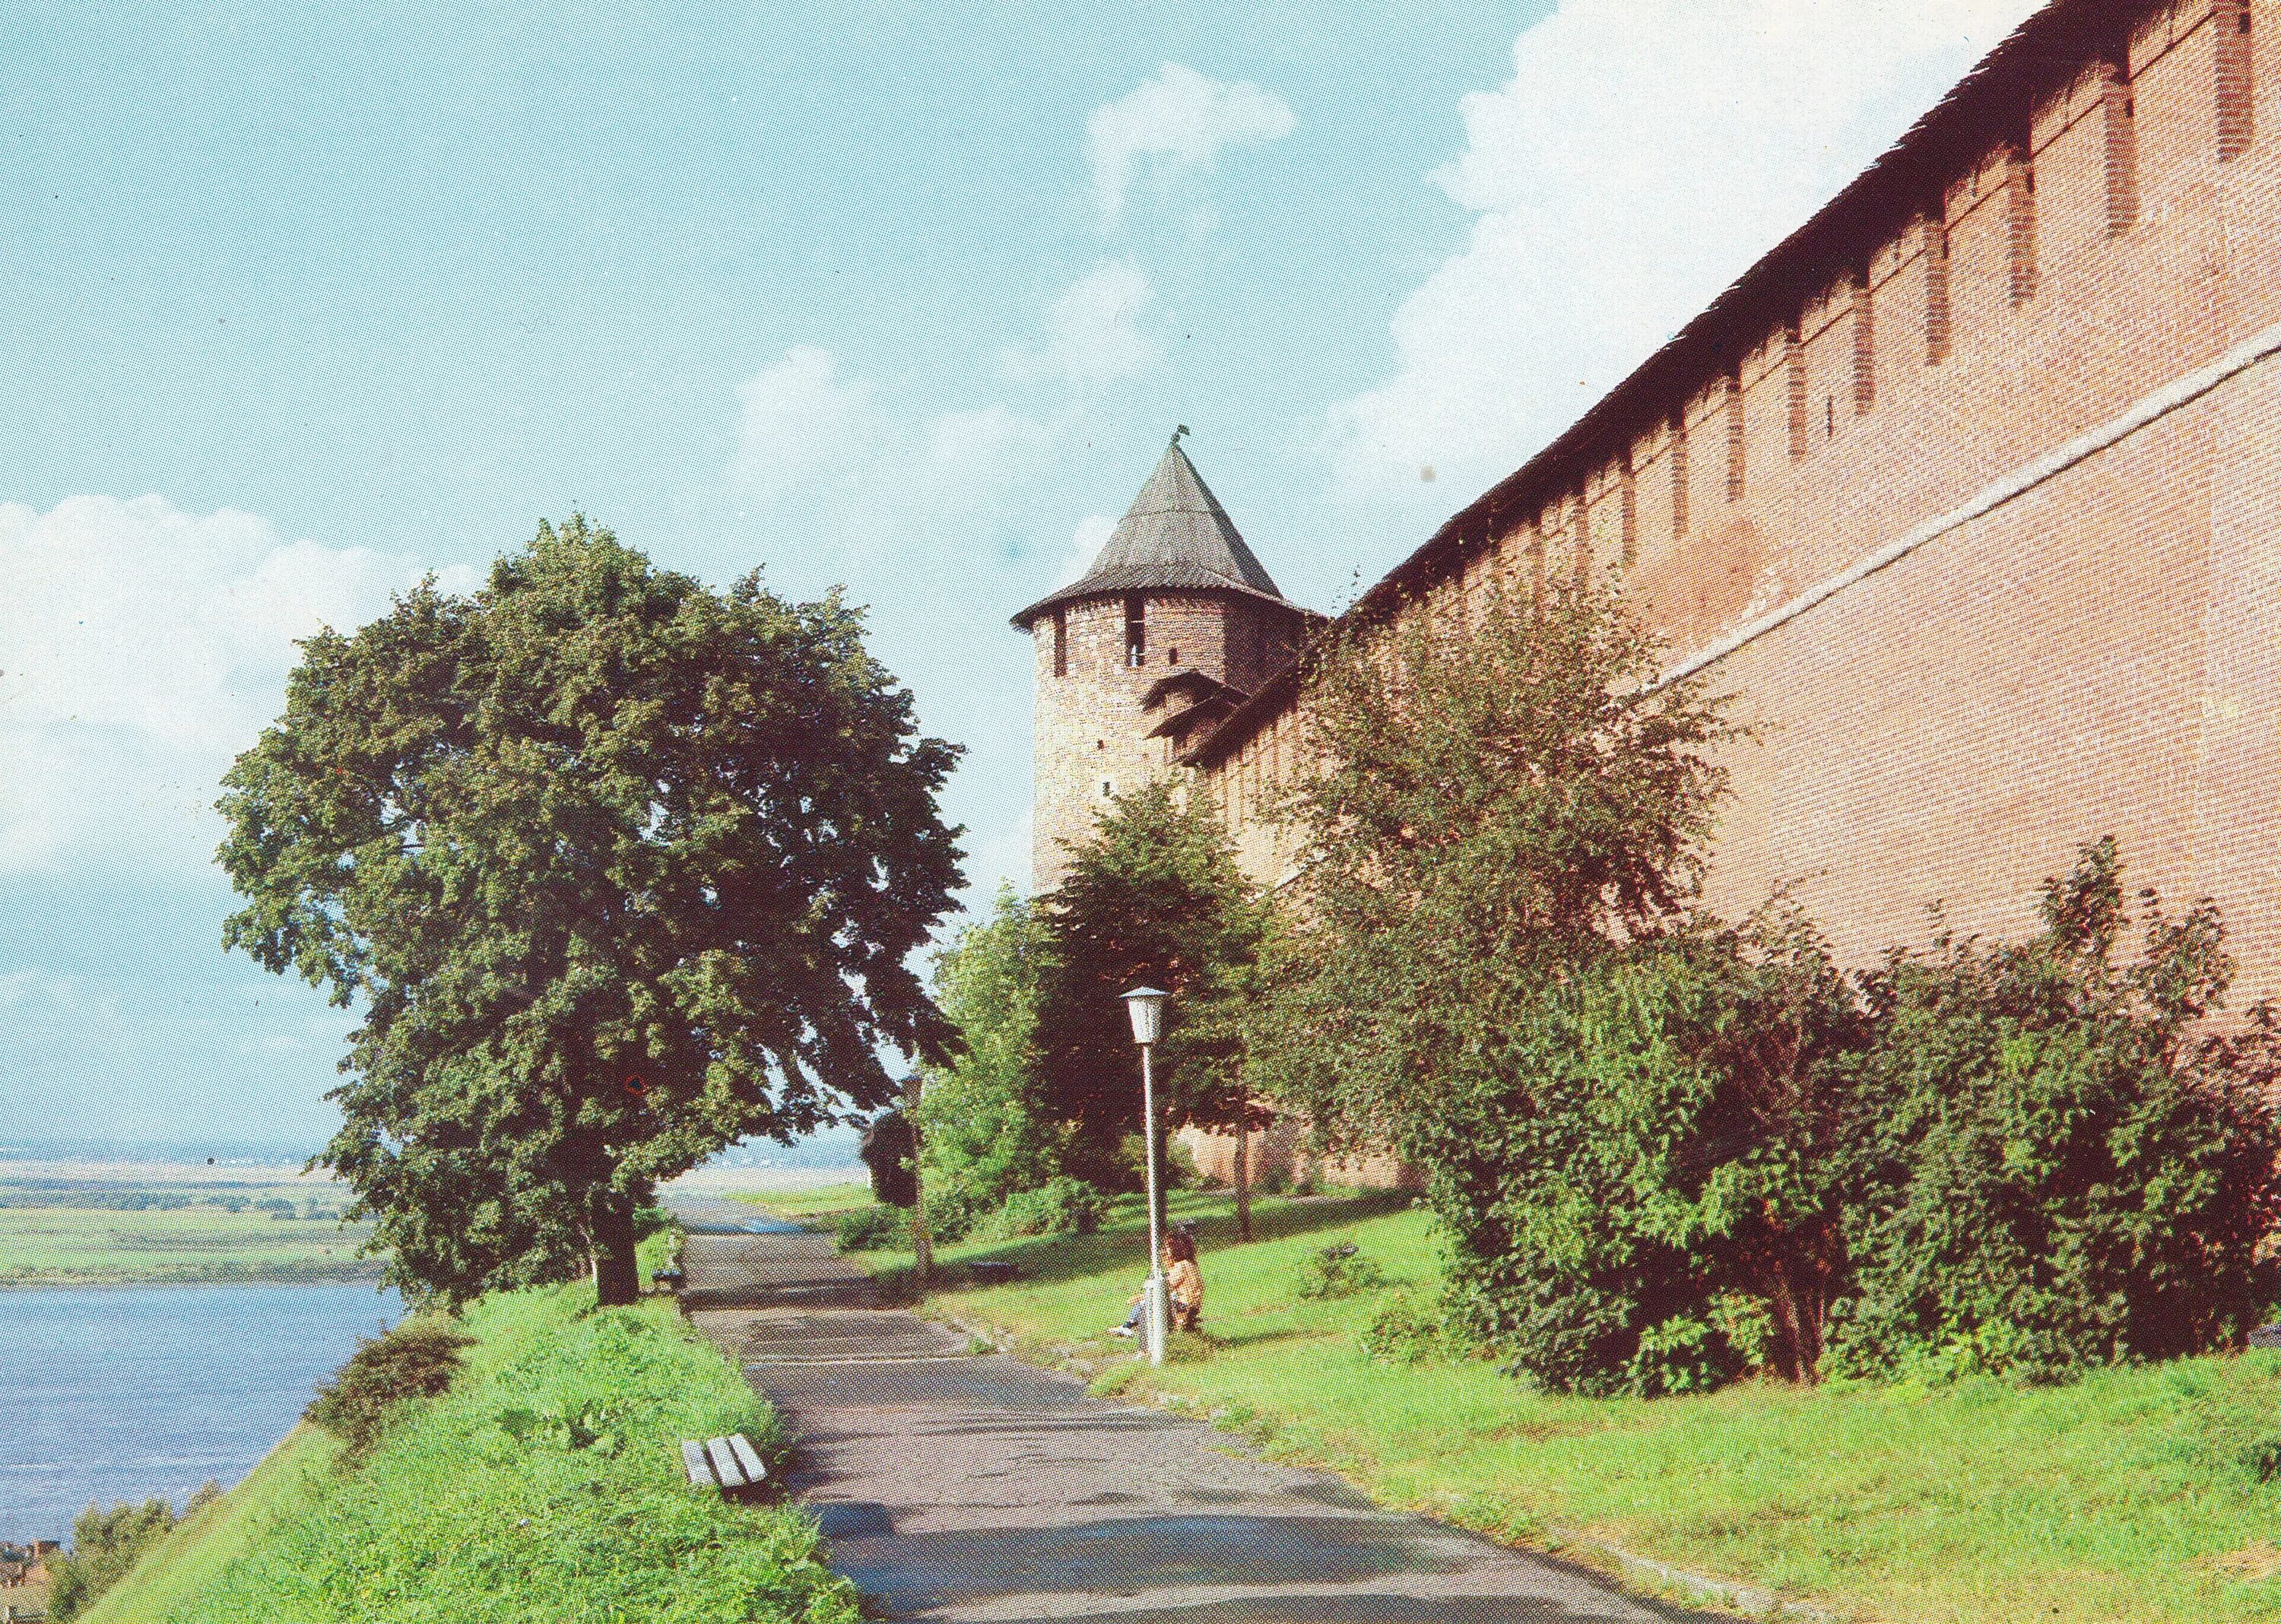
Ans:
{"label": "big white cloud at left edge, beside the large round tree", "polygon": [[217,780],[283,709],[294,639],[358,625],[417,577],[233,509],[0,504],[0,874],[203,864]]}

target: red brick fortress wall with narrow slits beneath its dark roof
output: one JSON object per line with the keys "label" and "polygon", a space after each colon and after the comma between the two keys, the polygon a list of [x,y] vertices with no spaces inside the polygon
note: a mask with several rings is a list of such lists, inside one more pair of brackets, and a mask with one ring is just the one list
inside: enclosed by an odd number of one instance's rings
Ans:
{"label": "red brick fortress wall with narrow slits beneath its dark roof", "polygon": [[[1382,586],[1622,579],[1761,725],[1720,910],[1793,883],[1854,960],[1932,901],[2016,933],[2114,833],[2133,883],[2219,901],[2242,1004],[2281,992],[2281,0],[2053,18],[2039,89],[1950,119],[1937,185],[1745,278]],[[1302,734],[1252,707],[1200,753],[1271,883],[1257,805]]]}

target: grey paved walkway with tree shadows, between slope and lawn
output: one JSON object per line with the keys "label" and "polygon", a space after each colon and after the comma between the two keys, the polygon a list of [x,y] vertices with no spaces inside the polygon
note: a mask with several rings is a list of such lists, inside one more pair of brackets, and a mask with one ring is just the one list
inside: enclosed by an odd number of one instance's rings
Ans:
{"label": "grey paved walkway with tree shadows, between slope and lawn", "polygon": [[[684,1302],[798,1439],[830,1562],[894,1619],[1647,1624],[1706,1619],[1382,1512],[1223,1432],[1088,1398],[874,1307],[826,1236],[677,1197]],[[1106,1312],[1106,1309],[1104,1309]]]}

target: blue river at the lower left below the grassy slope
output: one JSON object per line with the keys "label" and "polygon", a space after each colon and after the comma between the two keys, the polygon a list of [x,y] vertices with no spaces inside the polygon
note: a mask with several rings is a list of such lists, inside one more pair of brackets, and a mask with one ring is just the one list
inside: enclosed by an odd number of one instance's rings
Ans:
{"label": "blue river at the lower left below the grassy slope", "polygon": [[230,1487],[401,1312],[370,1284],[0,1291],[0,1540]]}

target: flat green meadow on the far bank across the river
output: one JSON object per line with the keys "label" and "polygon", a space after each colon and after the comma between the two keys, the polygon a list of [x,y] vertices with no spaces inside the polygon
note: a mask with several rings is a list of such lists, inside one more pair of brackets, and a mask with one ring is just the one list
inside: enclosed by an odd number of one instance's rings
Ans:
{"label": "flat green meadow on the far bank across the river", "polygon": [[0,1179],[0,1286],[376,1280],[347,1202],[310,1179]]}

